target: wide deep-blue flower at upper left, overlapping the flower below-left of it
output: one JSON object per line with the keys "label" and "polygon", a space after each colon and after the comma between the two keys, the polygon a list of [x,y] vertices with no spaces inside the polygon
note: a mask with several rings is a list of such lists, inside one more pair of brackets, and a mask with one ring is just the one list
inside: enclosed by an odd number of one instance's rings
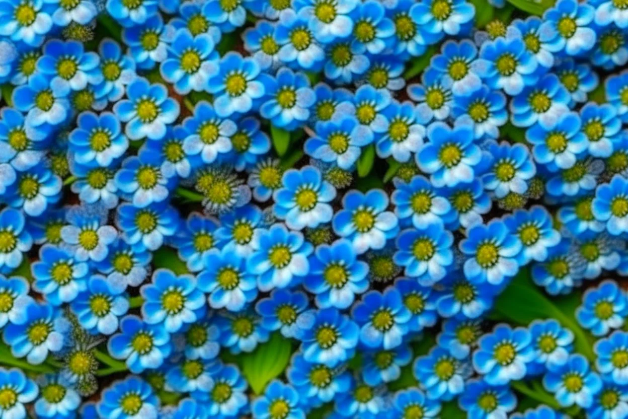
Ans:
{"label": "wide deep-blue flower at upper left, overlapping the flower below-left of it", "polygon": [[37,71],[48,77],[53,94],[63,95],[68,90],[81,90],[88,84],[102,82],[99,64],[98,54],[84,52],[82,43],[51,40],[43,46]]}

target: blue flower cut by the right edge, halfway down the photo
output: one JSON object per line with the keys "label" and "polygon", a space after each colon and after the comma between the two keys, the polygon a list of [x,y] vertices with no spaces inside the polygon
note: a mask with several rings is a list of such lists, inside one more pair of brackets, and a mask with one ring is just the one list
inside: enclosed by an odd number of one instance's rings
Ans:
{"label": "blue flower cut by the right edge, halfway down the photo", "polygon": [[613,236],[628,232],[628,182],[625,178],[615,175],[610,183],[599,185],[591,210],[595,219],[604,222]]}

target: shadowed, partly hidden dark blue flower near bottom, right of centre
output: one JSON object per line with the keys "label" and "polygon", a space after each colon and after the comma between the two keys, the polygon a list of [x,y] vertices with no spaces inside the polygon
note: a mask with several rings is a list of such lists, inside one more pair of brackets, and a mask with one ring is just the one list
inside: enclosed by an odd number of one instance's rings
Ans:
{"label": "shadowed, partly hidden dark blue flower near bottom, right of centre", "polygon": [[394,349],[377,349],[365,352],[362,358],[362,379],[369,386],[391,383],[401,376],[401,367],[412,361],[407,344]]}

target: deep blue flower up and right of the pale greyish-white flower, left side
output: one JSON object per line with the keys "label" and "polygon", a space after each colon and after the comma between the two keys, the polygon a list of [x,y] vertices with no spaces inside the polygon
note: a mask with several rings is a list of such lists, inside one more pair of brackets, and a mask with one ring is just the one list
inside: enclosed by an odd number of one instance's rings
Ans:
{"label": "deep blue flower up and right of the pale greyish-white flower, left side", "polygon": [[179,214],[167,204],[151,204],[146,208],[121,204],[117,207],[117,225],[124,241],[135,251],[156,250],[164,239],[175,235]]}

